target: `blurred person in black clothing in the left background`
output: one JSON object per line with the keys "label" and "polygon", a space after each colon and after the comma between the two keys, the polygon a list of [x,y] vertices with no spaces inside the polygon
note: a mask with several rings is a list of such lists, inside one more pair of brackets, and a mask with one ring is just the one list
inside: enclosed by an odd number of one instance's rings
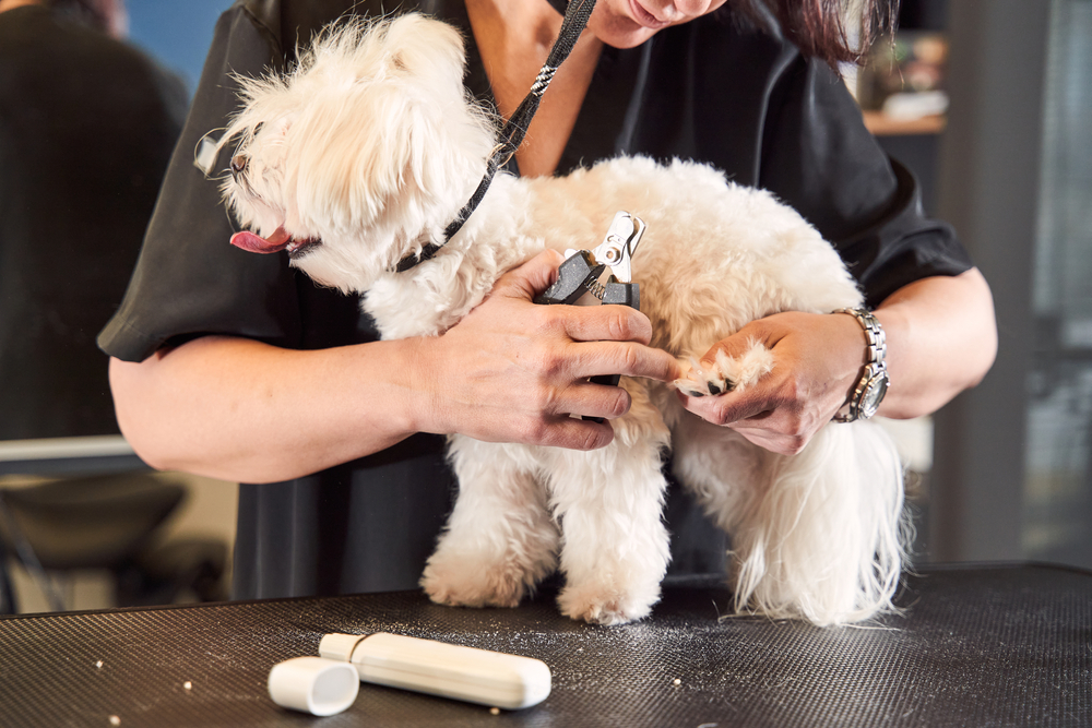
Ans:
{"label": "blurred person in black clothing in the left background", "polygon": [[117,433],[95,335],[185,119],[123,0],[0,0],[0,440]]}

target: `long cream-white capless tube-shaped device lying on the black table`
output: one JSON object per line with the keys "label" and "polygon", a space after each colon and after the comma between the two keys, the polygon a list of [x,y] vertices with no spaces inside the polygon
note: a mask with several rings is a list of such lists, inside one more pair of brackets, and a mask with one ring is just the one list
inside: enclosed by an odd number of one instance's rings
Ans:
{"label": "long cream-white capless tube-shaped device lying on the black table", "polygon": [[542,660],[434,640],[328,634],[319,654],[352,663],[364,682],[491,707],[530,707],[550,691],[550,671]]}

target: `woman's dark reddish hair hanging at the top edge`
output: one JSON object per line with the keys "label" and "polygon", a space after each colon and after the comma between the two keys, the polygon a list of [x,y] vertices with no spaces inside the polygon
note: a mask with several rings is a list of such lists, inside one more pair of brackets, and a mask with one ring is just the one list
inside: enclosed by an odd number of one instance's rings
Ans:
{"label": "woman's dark reddish hair hanging at the top edge", "polygon": [[862,62],[873,40],[891,32],[899,16],[899,0],[858,0],[860,35],[854,39],[844,23],[846,0],[731,0],[728,4],[762,26],[769,25],[772,13],[800,52],[830,65]]}

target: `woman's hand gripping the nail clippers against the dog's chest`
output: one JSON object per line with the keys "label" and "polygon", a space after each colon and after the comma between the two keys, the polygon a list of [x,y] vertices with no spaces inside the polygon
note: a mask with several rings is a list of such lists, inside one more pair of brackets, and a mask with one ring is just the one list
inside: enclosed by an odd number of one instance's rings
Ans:
{"label": "woman's hand gripping the nail clippers against the dog's chest", "polygon": [[546,251],[509,272],[486,299],[446,333],[417,339],[414,390],[427,393],[419,429],[492,442],[578,450],[614,438],[612,419],[630,407],[621,387],[592,384],[600,374],[672,381],[675,358],[648,346],[649,319],[625,306],[536,306],[557,277],[560,253]]}

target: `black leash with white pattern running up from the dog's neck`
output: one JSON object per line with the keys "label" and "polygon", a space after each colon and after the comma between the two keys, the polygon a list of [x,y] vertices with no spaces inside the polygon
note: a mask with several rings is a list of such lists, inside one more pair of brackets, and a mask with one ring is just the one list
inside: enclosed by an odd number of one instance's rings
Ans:
{"label": "black leash with white pattern running up from the dog's neck", "polygon": [[443,230],[443,240],[439,243],[428,242],[422,248],[420,253],[410,253],[403,258],[394,267],[396,272],[408,271],[418,263],[436,255],[440,248],[459,232],[466,219],[477,208],[482,199],[485,198],[485,193],[489,189],[489,184],[492,182],[497,170],[503,167],[512,155],[515,154],[515,150],[520,147],[527,127],[531,126],[531,119],[534,118],[535,112],[538,110],[538,104],[542,102],[543,94],[546,93],[546,88],[549,86],[550,81],[554,80],[554,74],[557,73],[558,68],[569,57],[573,46],[577,45],[577,39],[583,33],[584,26],[587,25],[587,17],[592,14],[594,7],[595,0],[571,0],[569,2],[569,7],[565,11],[565,20],[561,22],[561,31],[558,33],[557,40],[554,41],[554,47],[550,48],[549,55],[546,57],[546,63],[543,64],[542,70],[538,71],[538,75],[535,76],[535,82],[531,85],[531,92],[523,98],[519,108],[515,109],[511,118],[509,118],[508,123],[505,124],[503,130],[501,130],[500,144],[497,145],[492,156],[489,157],[485,177],[482,178],[477,189],[474,190],[474,194],[463,205],[463,208],[459,211],[455,219]]}

